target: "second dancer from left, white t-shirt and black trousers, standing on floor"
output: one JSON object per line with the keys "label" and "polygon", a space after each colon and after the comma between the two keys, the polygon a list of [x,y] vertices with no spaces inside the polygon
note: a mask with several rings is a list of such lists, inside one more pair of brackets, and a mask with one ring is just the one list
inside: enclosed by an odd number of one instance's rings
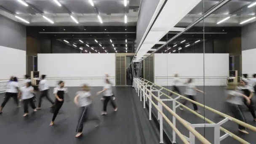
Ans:
{"label": "second dancer from left, white t-shirt and black trousers, standing on floor", "polygon": [[33,97],[34,97],[34,88],[31,84],[31,82],[27,82],[25,86],[23,86],[21,88],[21,94],[19,94],[19,96],[21,95],[21,99],[23,101],[24,104],[24,115],[23,117],[26,117],[28,115],[28,104],[30,104],[30,106],[32,107],[32,109],[34,109],[34,112],[37,111],[37,109],[35,108],[35,103],[33,101]]}

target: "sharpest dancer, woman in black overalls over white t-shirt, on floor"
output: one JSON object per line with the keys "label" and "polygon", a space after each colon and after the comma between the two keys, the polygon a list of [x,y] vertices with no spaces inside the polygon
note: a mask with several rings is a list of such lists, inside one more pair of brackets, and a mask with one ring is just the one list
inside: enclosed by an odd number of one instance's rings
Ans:
{"label": "sharpest dancer, woman in black overalls over white t-shirt, on floor", "polygon": [[53,89],[53,94],[55,96],[55,105],[53,107],[53,118],[49,126],[54,124],[54,120],[61,109],[62,104],[64,103],[64,94],[67,93],[67,88],[64,88],[64,82],[59,81],[59,86]]}

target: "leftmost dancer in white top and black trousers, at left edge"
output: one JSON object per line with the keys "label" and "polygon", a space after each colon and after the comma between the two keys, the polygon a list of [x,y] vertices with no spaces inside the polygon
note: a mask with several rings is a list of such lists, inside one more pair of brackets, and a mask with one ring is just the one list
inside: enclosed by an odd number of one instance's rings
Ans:
{"label": "leftmost dancer in white top and black trousers, at left edge", "polygon": [[18,93],[19,93],[18,79],[17,77],[13,77],[13,78],[11,77],[10,81],[6,85],[5,97],[0,107],[0,114],[3,113],[3,108],[5,107],[5,104],[8,102],[8,100],[11,97],[17,104],[17,107],[20,107],[19,101],[18,101]]}

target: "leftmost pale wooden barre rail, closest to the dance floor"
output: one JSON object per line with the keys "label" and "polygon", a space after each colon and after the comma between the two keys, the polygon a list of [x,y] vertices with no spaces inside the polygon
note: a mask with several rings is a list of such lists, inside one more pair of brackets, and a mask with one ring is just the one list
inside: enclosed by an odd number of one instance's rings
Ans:
{"label": "leftmost pale wooden barre rail, closest to the dance floor", "polygon": [[187,128],[187,130],[189,130],[191,133],[194,134],[195,137],[197,137],[197,139],[199,139],[199,141],[201,141],[203,144],[211,144],[207,139],[205,139],[200,133],[198,133],[194,128],[192,128],[191,125],[189,125],[185,120],[183,120],[179,115],[177,115],[175,112],[173,112],[167,105],[165,105],[163,103],[163,101],[160,101],[157,96],[155,96],[153,93],[151,93],[144,85],[141,85],[142,87],[145,88],[146,91],[148,91],[150,93],[151,96],[153,96],[160,104],[162,104],[163,107],[165,107],[165,109],[171,113],[171,115],[173,115],[174,117],[176,117],[177,120],[179,120],[179,122],[184,125],[185,128]]}

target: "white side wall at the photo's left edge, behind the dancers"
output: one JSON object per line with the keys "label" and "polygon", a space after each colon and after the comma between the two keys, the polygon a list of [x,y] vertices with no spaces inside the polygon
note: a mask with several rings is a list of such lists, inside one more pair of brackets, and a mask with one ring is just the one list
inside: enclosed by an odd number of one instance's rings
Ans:
{"label": "white side wall at the photo's left edge, behind the dancers", "polygon": [[0,46],[0,91],[5,90],[11,76],[23,78],[26,74],[26,51]]}

